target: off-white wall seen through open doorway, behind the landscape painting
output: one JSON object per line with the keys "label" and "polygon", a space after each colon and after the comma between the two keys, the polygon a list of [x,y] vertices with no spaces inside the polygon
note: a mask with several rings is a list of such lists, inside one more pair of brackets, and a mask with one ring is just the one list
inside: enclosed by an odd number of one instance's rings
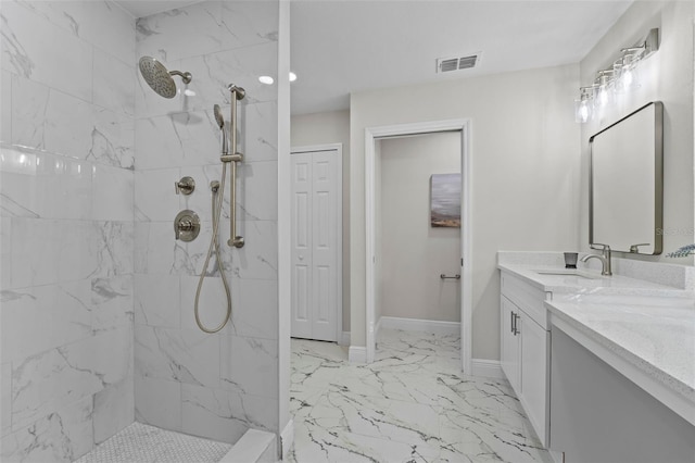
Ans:
{"label": "off-white wall seen through open doorway, behind the landscape painting", "polygon": [[[386,138],[381,151],[381,315],[460,321],[460,229],[430,226],[430,177],[460,173],[460,134]],[[377,201],[379,199],[377,198]],[[378,210],[377,210],[378,214]],[[377,312],[377,321],[379,313]]]}

